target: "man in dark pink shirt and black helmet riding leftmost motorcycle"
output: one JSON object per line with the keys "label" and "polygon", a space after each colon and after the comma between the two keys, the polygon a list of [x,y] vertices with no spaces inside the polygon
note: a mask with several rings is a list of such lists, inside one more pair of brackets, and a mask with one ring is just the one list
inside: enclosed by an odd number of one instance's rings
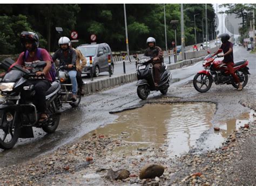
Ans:
{"label": "man in dark pink shirt and black helmet riding leftmost motorcycle", "polygon": [[[25,67],[31,67],[32,64],[38,63],[40,59],[38,59],[36,53],[37,48],[39,46],[39,37],[34,32],[23,31],[21,33],[21,44],[24,49],[24,52],[19,54],[18,60],[16,64],[24,65]],[[26,51],[28,51],[28,57],[26,57]],[[41,57],[42,60],[46,62],[46,66],[43,71],[36,72],[38,76],[44,76],[45,79],[33,79],[28,82],[28,84],[32,84],[35,87],[35,105],[38,109],[38,112],[41,113],[39,122],[44,123],[48,121],[48,115],[45,113],[46,111],[46,91],[51,87],[50,82],[52,81],[51,75],[49,71],[51,69],[52,58],[48,51],[45,49],[41,49]]]}

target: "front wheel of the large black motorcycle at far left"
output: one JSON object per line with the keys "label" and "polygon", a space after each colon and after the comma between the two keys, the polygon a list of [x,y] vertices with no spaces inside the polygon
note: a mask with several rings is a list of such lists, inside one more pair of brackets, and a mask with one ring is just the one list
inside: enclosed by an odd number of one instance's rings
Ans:
{"label": "front wheel of the large black motorcycle at far left", "polygon": [[[7,122],[6,120],[3,122]],[[21,127],[18,125],[20,120],[18,119],[14,126],[12,127],[11,123],[0,129],[0,148],[1,149],[11,149],[15,146],[19,135],[21,134]],[[9,140],[8,140],[9,139]],[[7,141],[8,140],[8,141]]]}

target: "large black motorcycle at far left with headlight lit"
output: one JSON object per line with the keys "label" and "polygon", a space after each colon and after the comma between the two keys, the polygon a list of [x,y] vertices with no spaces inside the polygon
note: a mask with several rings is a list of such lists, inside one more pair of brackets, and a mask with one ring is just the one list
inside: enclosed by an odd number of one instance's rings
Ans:
{"label": "large black motorcycle at far left with headlight lit", "polygon": [[[11,61],[10,58],[5,60]],[[42,128],[46,133],[53,133],[57,129],[61,106],[58,94],[60,82],[52,82],[46,92],[46,113],[49,119],[44,123],[39,123],[40,114],[33,104],[34,86],[26,84],[31,79],[44,79],[38,77],[36,72],[42,71],[45,66],[45,61],[39,61],[29,69],[15,65],[4,75],[0,84],[4,101],[0,105],[0,148],[11,149],[18,138],[33,137],[32,127]]]}

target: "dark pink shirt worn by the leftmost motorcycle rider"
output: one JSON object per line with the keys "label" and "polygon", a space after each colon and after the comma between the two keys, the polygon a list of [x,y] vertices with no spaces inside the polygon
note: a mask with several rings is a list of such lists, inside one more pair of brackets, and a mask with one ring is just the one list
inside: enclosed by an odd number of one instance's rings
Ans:
{"label": "dark pink shirt worn by the leftmost motorcycle rider", "polygon": [[[25,67],[31,67],[32,64],[38,63],[40,61],[40,59],[37,58],[36,53],[35,53],[35,56],[33,57],[28,55],[28,58],[26,59],[26,61],[23,61],[23,56],[24,56],[24,52],[19,54],[17,64],[23,65],[23,66],[25,65]],[[50,54],[45,49],[41,49],[41,57],[43,61],[52,61]],[[45,78],[48,79],[49,81],[52,81],[51,75],[49,73],[45,74]]]}

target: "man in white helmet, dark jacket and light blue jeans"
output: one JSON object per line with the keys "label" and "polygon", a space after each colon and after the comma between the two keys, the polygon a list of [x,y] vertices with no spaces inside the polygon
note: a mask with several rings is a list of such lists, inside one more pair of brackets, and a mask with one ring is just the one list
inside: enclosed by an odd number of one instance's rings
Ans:
{"label": "man in white helmet, dark jacket and light blue jeans", "polygon": [[71,42],[68,37],[60,37],[59,48],[52,56],[53,61],[59,59],[59,65],[68,65],[68,74],[72,84],[72,100],[77,99],[77,71],[76,71],[76,51],[71,48]]}

